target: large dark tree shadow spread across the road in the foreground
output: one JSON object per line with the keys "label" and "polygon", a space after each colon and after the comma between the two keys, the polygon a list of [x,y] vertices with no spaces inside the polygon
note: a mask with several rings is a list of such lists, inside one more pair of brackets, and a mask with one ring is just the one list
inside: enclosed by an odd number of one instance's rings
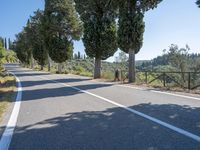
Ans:
{"label": "large dark tree shadow spread across the road in the foreground", "polygon": [[[200,114],[200,108],[150,103],[132,106],[148,115],[166,113],[162,120],[175,123],[167,117],[177,113],[186,115],[189,130],[194,122],[190,117]],[[160,112],[160,110],[162,110]],[[53,110],[52,110],[53,111]],[[157,114],[155,115],[154,113]],[[41,114],[42,115],[42,114]],[[169,115],[169,116],[168,116]],[[39,117],[39,116],[38,116]],[[177,122],[180,116],[175,119]],[[198,118],[198,120],[200,119]],[[183,121],[185,122],[185,121]],[[179,127],[179,126],[178,126]],[[196,130],[199,126],[196,125]],[[108,108],[99,111],[66,113],[15,130],[11,150],[199,150],[200,144],[188,137],[153,123],[122,108]]]}

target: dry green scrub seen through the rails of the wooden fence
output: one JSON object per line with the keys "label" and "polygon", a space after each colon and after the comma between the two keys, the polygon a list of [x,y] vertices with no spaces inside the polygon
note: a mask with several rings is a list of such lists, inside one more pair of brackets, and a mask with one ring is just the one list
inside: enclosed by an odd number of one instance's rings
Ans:
{"label": "dry green scrub seen through the rails of the wooden fence", "polygon": [[[121,71],[121,81],[127,81],[127,71]],[[154,72],[137,71],[136,83],[163,87],[200,88],[200,72]]]}

